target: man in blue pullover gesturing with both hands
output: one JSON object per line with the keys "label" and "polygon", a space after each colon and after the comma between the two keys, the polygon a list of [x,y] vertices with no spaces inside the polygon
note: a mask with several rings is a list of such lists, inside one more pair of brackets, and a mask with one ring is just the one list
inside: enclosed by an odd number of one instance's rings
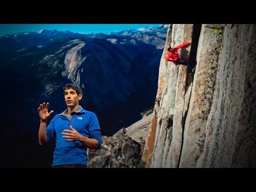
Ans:
{"label": "man in blue pullover gesturing with both hands", "polygon": [[55,137],[52,167],[87,167],[87,148],[101,147],[99,121],[94,113],[84,110],[79,105],[83,97],[79,86],[67,84],[63,90],[68,108],[55,115],[48,126],[47,120],[53,110],[48,112],[48,102],[39,106],[41,123],[38,140],[40,145],[45,145]]}

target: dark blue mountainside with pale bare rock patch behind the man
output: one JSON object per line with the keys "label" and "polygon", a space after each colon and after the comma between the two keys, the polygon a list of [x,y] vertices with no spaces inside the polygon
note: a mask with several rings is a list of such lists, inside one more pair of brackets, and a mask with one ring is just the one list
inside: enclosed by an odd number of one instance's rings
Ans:
{"label": "dark blue mountainside with pale bare rock patch behind the man", "polygon": [[[111,38],[116,42],[111,43]],[[154,103],[162,54],[156,46],[165,43],[162,37],[158,42],[144,40],[147,39],[59,31],[1,36],[0,79],[3,89],[9,92],[1,94],[1,99],[7,101],[1,108],[3,126],[9,127],[3,134],[13,135],[2,142],[12,140],[14,147],[11,151],[3,149],[3,167],[37,166],[39,162],[50,166],[50,158],[40,160],[41,156],[52,157],[52,151],[42,152],[37,146],[37,108],[40,103],[50,103],[54,114],[49,122],[62,113],[66,109],[62,87],[67,83],[81,86],[81,106],[97,114],[103,135],[113,135],[122,126],[138,121],[140,112]],[[18,112],[10,115],[11,109]],[[53,146],[51,143],[49,147]]]}

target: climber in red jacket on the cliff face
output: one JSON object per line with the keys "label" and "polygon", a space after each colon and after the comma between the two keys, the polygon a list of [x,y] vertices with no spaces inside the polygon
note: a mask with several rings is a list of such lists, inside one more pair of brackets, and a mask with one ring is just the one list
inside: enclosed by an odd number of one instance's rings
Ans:
{"label": "climber in red jacket on the cliff face", "polygon": [[187,65],[187,61],[180,59],[180,55],[178,54],[178,50],[181,49],[182,47],[185,47],[186,45],[190,45],[190,42],[185,42],[177,47],[169,47],[167,50],[168,55],[165,58],[165,61],[172,61],[174,65]]}

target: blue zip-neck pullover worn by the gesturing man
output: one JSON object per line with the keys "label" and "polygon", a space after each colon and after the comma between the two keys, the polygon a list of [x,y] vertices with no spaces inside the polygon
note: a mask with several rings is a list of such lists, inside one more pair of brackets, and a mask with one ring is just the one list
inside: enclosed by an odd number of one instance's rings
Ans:
{"label": "blue zip-neck pullover worn by the gesturing man", "polygon": [[87,147],[79,141],[66,141],[62,137],[63,130],[70,129],[69,125],[84,137],[97,139],[97,149],[101,147],[99,121],[94,113],[86,111],[79,106],[69,119],[64,111],[61,114],[55,115],[46,128],[47,142],[56,137],[52,166],[67,164],[83,164],[87,166]]}

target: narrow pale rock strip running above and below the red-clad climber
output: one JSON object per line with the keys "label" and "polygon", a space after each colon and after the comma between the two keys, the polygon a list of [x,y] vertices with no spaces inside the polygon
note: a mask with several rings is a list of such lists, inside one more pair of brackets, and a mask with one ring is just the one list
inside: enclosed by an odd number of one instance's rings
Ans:
{"label": "narrow pale rock strip running above and below the red-clad climber", "polygon": [[[176,24],[172,26],[171,47],[175,47],[183,43],[180,38],[183,36],[183,27],[184,25]],[[175,36],[174,34],[177,35]],[[179,54],[180,51],[181,50],[179,50]],[[172,124],[175,107],[175,86],[178,81],[179,66],[173,65],[173,62],[165,62],[167,63],[167,84],[163,93],[161,110],[159,110],[159,113],[157,114],[158,126],[156,129],[156,141],[153,150],[154,156],[150,167],[164,167],[171,142],[170,139],[172,138],[173,133]]]}

